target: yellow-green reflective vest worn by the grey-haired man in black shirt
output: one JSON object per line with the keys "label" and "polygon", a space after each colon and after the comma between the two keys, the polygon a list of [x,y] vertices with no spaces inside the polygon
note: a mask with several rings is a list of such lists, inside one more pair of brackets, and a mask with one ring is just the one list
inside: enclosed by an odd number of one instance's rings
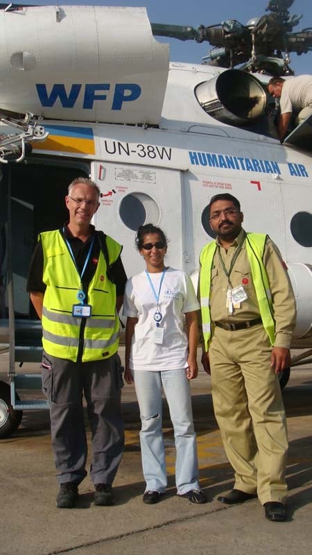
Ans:
{"label": "yellow-green reflective vest worn by the grey-haired man in black shirt", "polygon": [[[53,357],[77,361],[83,341],[83,362],[107,359],[119,345],[119,318],[116,314],[116,286],[106,275],[105,257],[100,252],[85,302],[92,315],[72,315],[78,304],[80,276],[59,230],[40,234],[44,253],[43,282],[46,284],[42,309],[42,345]],[[109,264],[116,262],[121,245],[106,236]],[[85,320],[85,323],[82,320]],[[81,336],[82,335],[82,336]]]}

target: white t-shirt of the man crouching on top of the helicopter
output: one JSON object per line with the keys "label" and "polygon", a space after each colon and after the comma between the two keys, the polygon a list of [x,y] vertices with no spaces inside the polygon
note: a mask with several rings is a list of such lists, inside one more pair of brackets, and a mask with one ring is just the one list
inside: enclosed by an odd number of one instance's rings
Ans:
{"label": "white t-shirt of the man crouching on top of the helicopter", "polygon": [[312,106],[312,75],[298,75],[285,80],[279,100],[281,114]]}

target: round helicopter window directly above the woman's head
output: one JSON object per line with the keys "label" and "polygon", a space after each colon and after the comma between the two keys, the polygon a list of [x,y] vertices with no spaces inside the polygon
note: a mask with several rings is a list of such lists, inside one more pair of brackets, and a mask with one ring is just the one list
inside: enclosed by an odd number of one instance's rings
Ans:
{"label": "round helicopter window directly above the woman's head", "polygon": [[137,231],[139,225],[152,221],[157,225],[160,219],[159,206],[145,193],[132,193],[121,200],[119,215],[130,230]]}

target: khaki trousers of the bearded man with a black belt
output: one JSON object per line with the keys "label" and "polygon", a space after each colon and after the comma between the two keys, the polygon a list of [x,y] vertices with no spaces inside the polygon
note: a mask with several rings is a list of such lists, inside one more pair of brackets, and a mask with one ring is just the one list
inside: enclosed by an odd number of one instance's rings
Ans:
{"label": "khaki trousers of the bearded man with a black belt", "polygon": [[286,416],[271,348],[262,325],[228,332],[216,327],[209,347],[212,399],[234,488],[259,501],[285,503]]}

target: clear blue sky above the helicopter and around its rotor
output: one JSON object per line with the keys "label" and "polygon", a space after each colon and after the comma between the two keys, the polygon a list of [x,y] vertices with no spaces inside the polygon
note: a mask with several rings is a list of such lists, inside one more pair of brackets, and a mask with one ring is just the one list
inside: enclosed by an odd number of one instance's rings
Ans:
{"label": "clear blue sky above the helicopter and around its rotor", "polygon": [[[3,0],[2,0],[3,1]],[[34,5],[52,5],[53,1],[29,0]],[[93,0],[93,1],[60,1],[64,5],[98,5],[98,6],[145,6],[148,11],[150,22],[167,23],[176,25],[191,25],[197,27],[215,25],[225,19],[237,19],[241,24],[246,24],[252,17],[261,16],[265,13],[268,0]],[[295,31],[305,27],[312,27],[311,0],[295,0],[289,8],[291,13],[303,14]],[[157,38],[157,40],[162,40]],[[197,44],[193,41],[182,42],[180,40],[165,39],[171,45],[170,58],[175,62],[200,63],[202,56],[209,50],[209,44]],[[295,74],[312,73],[312,52],[297,56],[291,54],[291,67]]]}

